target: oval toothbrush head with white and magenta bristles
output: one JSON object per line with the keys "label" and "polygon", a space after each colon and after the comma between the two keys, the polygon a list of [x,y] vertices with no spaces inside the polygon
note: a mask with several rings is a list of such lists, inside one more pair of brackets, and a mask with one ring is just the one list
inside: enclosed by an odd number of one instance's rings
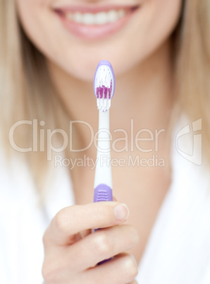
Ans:
{"label": "oval toothbrush head with white and magenta bristles", "polygon": [[97,66],[94,76],[94,94],[97,97],[98,110],[106,112],[111,106],[115,91],[115,76],[111,63],[102,60]]}

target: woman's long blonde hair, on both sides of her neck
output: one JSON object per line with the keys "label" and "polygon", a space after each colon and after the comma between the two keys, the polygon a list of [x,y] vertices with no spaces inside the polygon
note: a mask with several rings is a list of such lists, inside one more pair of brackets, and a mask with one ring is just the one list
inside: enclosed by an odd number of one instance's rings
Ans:
{"label": "woman's long blonde hair, on both sides of her neck", "polygon": [[[47,128],[68,125],[68,114],[53,88],[44,56],[30,42],[18,22],[15,1],[0,0],[1,124],[8,144],[8,129],[20,119],[44,120]],[[175,100],[191,119],[202,117],[206,157],[210,158],[210,4],[209,0],[183,1],[180,23],[173,33]],[[62,125],[62,127],[61,127]],[[5,135],[6,134],[6,135]],[[30,143],[27,129],[17,141]],[[11,150],[11,146],[9,146]],[[40,181],[46,167],[45,153],[30,153],[30,167]],[[39,166],[38,166],[39,165]],[[38,189],[42,182],[37,182]]]}

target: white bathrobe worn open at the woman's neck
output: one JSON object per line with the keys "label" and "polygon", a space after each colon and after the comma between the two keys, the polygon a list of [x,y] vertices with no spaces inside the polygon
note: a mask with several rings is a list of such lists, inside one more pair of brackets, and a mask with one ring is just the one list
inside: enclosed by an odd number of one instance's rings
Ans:
{"label": "white bathrobe worn open at the woman's neck", "polygon": [[[204,161],[194,165],[178,153],[175,137],[185,125],[182,121],[174,130],[172,183],[140,261],[138,283],[210,283],[210,174]],[[191,138],[183,143],[182,150],[189,145]],[[66,168],[57,168],[44,208],[39,208],[37,200],[27,166],[14,158],[9,167],[1,149],[1,284],[43,283],[44,230],[61,208],[75,204]]]}

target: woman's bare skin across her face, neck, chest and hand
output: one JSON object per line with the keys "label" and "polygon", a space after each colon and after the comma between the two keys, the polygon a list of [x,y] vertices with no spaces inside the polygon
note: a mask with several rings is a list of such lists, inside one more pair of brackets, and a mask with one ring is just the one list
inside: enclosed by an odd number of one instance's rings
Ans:
{"label": "woman's bare skin across her face, neck, chest and hand", "polygon": [[[94,170],[75,167],[70,175],[78,205],[60,211],[44,234],[43,276],[47,283],[84,283],[84,279],[85,283],[98,283],[98,279],[100,283],[110,283],[110,279],[111,283],[132,283],[137,264],[130,254],[140,262],[171,184],[171,142],[167,139],[173,105],[170,35],[178,23],[182,1],[81,0],[81,5],[141,4],[122,30],[92,41],[71,35],[51,10],[55,5],[73,5],[78,1],[16,0],[16,4],[27,36],[47,58],[58,94],[72,120],[88,122],[97,132],[92,80],[97,63],[107,59],[113,65],[117,82],[111,102],[113,139],[121,138],[121,134],[114,133],[115,129],[124,129],[130,141],[130,119],[134,120],[135,133],[140,129],[165,129],[159,136],[158,151],[165,167],[113,167],[114,194],[130,208],[128,220],[114,218],[117,201],[92,203]],[[81,126],[76,130],[74,142],[85,147],[89,143],[89,130]],[[149,141],[141,145],[145,149],[152,147]],[[123,143],[118,148],[123,148]],[[78,158],[84,154],[95,158],[94,146],[72,156]],[[157,154],[154,147],[142,157],[150,158],[152,154]],[[113,158],[126,161],[129,155],[135,157],[140,153],[136,147],[132,151],[130,145],[128,151],[111,153]],[[104,230],[90,234],[93,227]],[[115,257],[108,263],[95,266],[111,256]]]}

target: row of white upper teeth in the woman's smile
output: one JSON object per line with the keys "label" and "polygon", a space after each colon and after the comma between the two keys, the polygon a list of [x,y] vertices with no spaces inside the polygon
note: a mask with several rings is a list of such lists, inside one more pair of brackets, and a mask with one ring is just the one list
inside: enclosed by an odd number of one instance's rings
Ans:
{"label": "row of white upper teeth in the woman's smile", "polygon": [[106,23],[113,23],[124,16],[125,10],[123,9],[100,13],[66,13],[66,18],[68,20],[73,20],[76,23],[83,23],[85,25],[104,25]]}

